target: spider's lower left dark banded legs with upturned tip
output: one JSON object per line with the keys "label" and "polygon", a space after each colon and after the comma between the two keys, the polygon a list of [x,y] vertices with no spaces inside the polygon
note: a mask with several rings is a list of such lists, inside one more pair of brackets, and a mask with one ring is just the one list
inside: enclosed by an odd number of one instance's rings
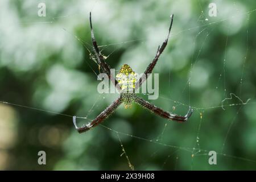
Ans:
{"label": "spider's lower left dark banded legs with upturned tip", "polygon": [[104,111],[101,112],[101,114],[99,114],[95,119],[93,119],[93,121],[89,122],[86,125],[83,125],[81,127],[78,127],[76,124],[76,116],[73,116],[73,123],[76,127],[76,130],[79,133],[83,133],[85,131],[88,131],[90,129],[92,129],[92,127],[97,126],[98,124],[100,124],[102,121],[104,121],[104,119],[108,118],[110,114],[112,114],[115,109],[117,109],[117,107],[122,104],[122,100],[121,97],[119,97],[117,100],[115,100],[110,106],[108,106]]}

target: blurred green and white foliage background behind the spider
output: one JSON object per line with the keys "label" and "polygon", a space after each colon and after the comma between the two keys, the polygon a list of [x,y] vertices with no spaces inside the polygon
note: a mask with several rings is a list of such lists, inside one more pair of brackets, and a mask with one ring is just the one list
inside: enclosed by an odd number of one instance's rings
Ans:
{"label": "blurred green and white foliage background behind the spider", "polygon": [[[41,2],[46,17],[38,16]],[[216,17],[208,15],[211,2]],[[1,0],[0,169],[129,170],[126,155],[137,170],[256,169],[255,5]],[[154,69],[159,98],[150,102],[182,115],[191,105],[187,123],[134,104],[119,107],[105,127],[77,133],[72,115],[93,119],[117,97],[97,92],[90,11],[109,65],[118,70],[129,64],[138,73],[155,56],[175,14],[170,42]],[[225,100],[230,93],[237,97]],[[208,163],[212,150],[217,165]],[[38,164],[39,151],[46,151],[46,165]]]}

